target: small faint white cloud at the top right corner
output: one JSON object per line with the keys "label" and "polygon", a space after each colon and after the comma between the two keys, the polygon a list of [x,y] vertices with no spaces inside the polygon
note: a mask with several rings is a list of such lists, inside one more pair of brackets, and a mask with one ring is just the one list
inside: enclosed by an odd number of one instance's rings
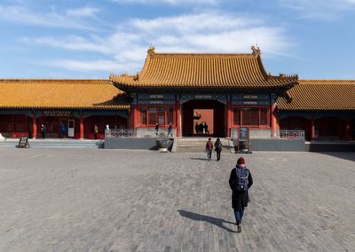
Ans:
{"label": "small faint white cloud at the top right corner", "polygon": [[302,18],[334,20],[341,12],[353,10],[355,0],[278,0],[280,4],[300,13]]}

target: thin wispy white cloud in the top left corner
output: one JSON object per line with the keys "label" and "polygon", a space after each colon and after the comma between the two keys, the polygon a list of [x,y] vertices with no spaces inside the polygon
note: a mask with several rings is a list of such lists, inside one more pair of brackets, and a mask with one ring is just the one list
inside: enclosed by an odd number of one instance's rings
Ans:
{"label": "thin wispy white cloud in the top left corner", "polygon": [[53,28],[80,28],[93,30],[94,28],[86,23],[83,18],[93,17],[96,12],[99,12],[99,10],[83,7],[68,10],[65,13],[59,13],[52,8],[51,12],[42,13],[34,12],[26,6],[0,4],[0,20]]}

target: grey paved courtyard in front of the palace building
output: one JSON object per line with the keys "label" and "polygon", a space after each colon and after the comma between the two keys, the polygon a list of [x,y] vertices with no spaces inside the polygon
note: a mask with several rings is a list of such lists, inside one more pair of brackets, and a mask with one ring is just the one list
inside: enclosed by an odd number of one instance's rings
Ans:
{"label": "grey paved courtyard in front of the palace building", "polygon": [[355,250],[354,154],[245,155],[255,185],[241,233],[237,157],[0,147],[0,250]]}

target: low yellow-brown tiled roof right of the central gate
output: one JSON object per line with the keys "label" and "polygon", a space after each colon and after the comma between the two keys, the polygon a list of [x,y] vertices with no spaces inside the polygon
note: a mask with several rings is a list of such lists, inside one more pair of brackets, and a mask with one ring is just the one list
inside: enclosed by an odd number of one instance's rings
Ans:
{"label": "low yellow-brown tiled roof right of the central gate", "polygon": [[355,81],[299,80],[288,96],[278,98],[281,110],[355,110]]}

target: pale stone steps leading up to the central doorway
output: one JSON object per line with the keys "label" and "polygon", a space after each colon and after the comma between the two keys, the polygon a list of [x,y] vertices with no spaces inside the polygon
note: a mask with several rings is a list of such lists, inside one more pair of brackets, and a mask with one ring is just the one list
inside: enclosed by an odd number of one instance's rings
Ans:
{"label": "pale stone steps leading up to the central doorway", "polygon": [[[215,143],[217,138],[211,138]],[[225,151],[234,152],[233,142],[229,138],[220,138]],[[204,153],[206,151],[206,138],[175,138],[172,152],[177,153]]]}

